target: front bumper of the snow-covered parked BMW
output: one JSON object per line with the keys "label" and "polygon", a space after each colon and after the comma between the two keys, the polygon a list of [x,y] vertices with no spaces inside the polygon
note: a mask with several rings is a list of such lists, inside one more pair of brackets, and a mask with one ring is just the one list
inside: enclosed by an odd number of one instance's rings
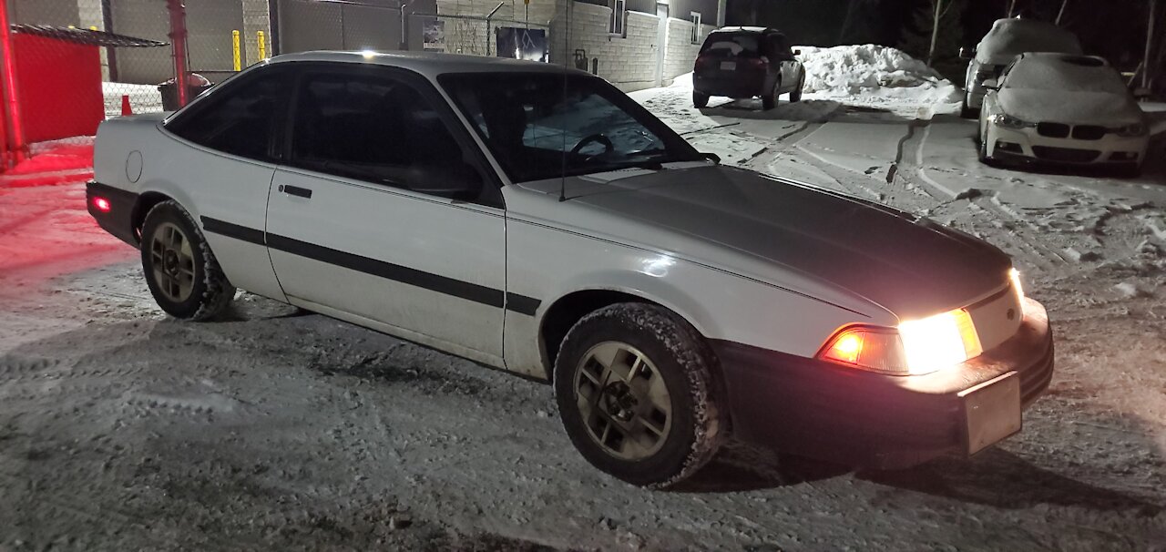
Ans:
{"label": "front bumper of the snow-covered parked BMW", "polygon": [[[1105,134],[1100,140],[1077,140],[1042,137],[1035,128],[1002,128],[992,124],[988,140],[989,156],[1021,165],[1137,166],[1150,147],[1149,137]],[[1005,149],[1002,142],[1012,146]],[[1133,158],[1129,156],[1131,153]]]}

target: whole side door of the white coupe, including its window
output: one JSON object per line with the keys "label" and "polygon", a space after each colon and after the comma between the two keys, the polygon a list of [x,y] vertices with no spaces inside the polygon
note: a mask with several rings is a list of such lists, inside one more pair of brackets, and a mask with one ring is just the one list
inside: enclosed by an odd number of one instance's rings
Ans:
{"label": "whole side door of the white coupe, including its window", "polygon": [[501,365],[501,195],[454,121],[415,74],[304,69],[268,245],[293,303]]}

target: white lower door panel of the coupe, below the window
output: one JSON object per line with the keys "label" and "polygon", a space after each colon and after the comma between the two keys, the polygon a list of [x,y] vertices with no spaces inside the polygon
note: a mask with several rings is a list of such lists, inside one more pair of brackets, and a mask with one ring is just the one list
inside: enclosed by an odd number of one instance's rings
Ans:
{"label": "white lower door panel of the coupe, below the window", "polygon": [[[280,191],[296,186],[311,198]],[[398,265],[493,291],[506,287],[503,211],[294,168],[281,168],[268,204],[272,263],[288,296],[326,305],[479,351],[500,364],[497,306],[282,251],[271,236]],[[440,252],[438,254],[434,254]],[[428,278],[428,277],[421,277]],[[322,285],[322,282],[326,282]],[[470,293],[489,291],[470,289]]]}

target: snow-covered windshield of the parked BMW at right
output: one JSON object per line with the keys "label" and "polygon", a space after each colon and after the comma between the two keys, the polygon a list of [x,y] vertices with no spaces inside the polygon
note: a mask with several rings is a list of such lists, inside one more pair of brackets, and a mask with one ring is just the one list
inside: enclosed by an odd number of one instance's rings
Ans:
{"label": "snow-covered windshield of the parked BMW at right", "polygon": [[1009,71],[1007,89],[1104,92],[1126,95],[1118,72],[1094,57],[1042,56],[1024,58]]}

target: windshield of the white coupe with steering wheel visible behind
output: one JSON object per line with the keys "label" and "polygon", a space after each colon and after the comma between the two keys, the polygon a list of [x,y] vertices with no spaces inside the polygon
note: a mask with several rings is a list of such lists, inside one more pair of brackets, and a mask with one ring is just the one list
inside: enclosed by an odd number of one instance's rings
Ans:
{"label": "windshield of the white coupe with steering wheel visible behind", "polygon": [[482,72],[438,81],[513,182],[703,159],[644,107],[595,77]]}

